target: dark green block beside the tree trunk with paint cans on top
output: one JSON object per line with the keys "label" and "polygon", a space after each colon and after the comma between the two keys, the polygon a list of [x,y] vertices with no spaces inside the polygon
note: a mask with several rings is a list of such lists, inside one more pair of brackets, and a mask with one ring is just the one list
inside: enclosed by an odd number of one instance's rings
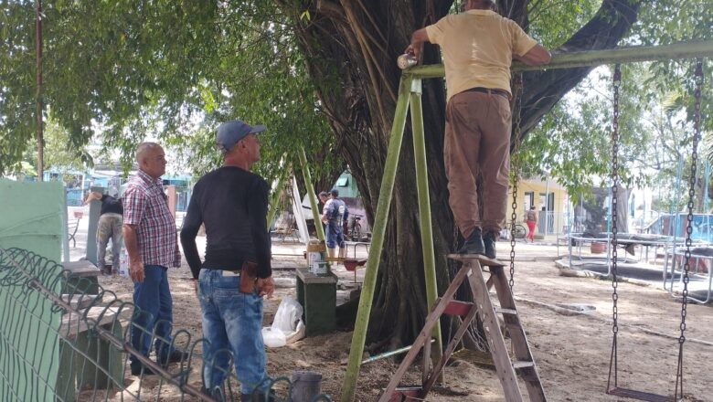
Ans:
{"label": "dark green block beside the tree trunk with paint cans on top", "polygon": [[297,302],[303,306],[304,335],[331,333],[336,327],[336,275],[317,276],[307,267],[297,270]]}

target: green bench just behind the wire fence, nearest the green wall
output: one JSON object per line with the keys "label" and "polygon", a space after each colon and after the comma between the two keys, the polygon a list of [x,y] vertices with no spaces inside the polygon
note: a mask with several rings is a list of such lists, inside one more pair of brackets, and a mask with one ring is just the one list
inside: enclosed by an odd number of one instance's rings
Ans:
{"label": "green bench just behind the wire fence, nearest the green wall", "polygon": [[[91,304],[86,295],[63,295],[69,304]],[[122,324],[117,319],[118,308],[89,307],[62,314],[59,324],[59,371],[55,393],[59,400],[74,402],[81,389],[109,389],[114,381],[122,381],[122,349],[101,339],[90,328],[101,327],[122,339]]]}

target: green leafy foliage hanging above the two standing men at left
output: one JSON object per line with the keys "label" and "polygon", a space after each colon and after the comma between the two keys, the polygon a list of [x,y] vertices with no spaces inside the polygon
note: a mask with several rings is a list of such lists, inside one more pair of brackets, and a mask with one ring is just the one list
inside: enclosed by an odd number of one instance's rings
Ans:
{"label": "green leafy foliage hanging above the two standing men at left", "polygon": [[[0,7],[2,175],[35,132],[35,68],[32,2]],[[56,1],[45,11],[44,100],[78,149],[101,135],[128,168],[135,146],[158,138],[199,172],[218,164],[213,130],[234,118],[268,126],[265,166],[330,143],[290,21],[272,2]]]}

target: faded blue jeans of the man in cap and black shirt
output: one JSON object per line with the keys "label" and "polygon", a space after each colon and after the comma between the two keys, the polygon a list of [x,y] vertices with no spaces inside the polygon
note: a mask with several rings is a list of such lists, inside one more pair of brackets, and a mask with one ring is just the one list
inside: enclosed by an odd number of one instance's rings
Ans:
{"label": "faded blue jeans of the man in cap and black shirt", "polygon": [[198,299],[203,318],[203,379],[212,389],[222,386],[230,358],[240,392],[266,392],[265,347],[262,344],[262,298],[239,291],[240,277],[220,270],[200,270]]}

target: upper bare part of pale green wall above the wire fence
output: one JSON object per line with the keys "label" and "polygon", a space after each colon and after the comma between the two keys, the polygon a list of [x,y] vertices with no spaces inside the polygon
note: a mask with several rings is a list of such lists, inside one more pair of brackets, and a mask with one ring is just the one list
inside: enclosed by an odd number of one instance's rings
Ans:
{"label": "upper bare part of pale green wall above the wire fence", "polygon": [[59,182],[0,179],[0,249],[27,249],[60,261],[64,208]]}

